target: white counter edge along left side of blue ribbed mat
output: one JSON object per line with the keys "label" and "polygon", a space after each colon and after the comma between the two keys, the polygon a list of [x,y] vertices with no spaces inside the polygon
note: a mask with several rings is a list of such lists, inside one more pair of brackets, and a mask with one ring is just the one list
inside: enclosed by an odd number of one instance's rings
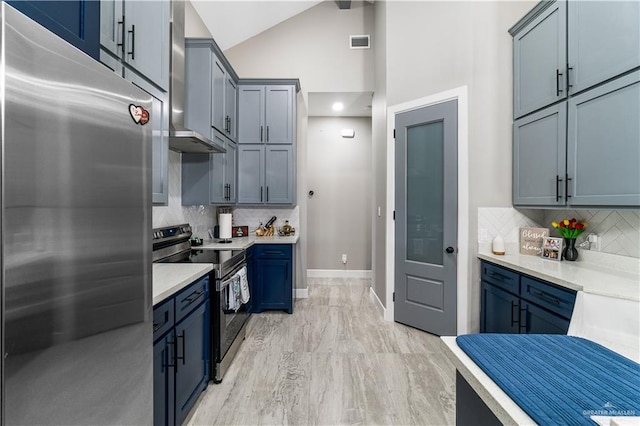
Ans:
{"label": "white counter edge along left side of blue ribbed mat", "polygon": [[491,412],[504,425],[535,425],[527,413],[507,395],[480,367],[458,346],[456,336],[440,338],[445,355],[469,383]]}

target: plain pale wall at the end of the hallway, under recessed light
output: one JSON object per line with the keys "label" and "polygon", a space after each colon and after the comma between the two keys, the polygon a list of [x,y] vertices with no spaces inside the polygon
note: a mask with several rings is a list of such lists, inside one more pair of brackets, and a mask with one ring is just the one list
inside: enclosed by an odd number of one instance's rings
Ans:
{"label": "plain pale wall at the end of the hallway, under recessed light", "polygon": [[371,119],[309,117],[307,138],[308,268],[371,270]]}

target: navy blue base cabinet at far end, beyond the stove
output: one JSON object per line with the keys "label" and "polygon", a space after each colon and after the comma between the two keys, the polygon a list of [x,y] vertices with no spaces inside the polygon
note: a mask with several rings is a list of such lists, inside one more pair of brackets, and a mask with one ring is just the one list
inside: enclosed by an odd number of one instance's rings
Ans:
{"label": "navy blue base cabinet at far end, beyond the stove", "polygon": [[290,244],[259,244],[254,250],[253,312],[293,313],[293,250]]}

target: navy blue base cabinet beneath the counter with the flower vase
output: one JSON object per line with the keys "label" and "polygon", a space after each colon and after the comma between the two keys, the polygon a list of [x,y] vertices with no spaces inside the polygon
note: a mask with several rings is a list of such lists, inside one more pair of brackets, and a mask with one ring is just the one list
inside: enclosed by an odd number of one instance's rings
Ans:
{"label": "navy blue base cabinet beneath the counter with the flower vase", "polygon": [[566,334],[576,293],[481,262],[480,332]]}

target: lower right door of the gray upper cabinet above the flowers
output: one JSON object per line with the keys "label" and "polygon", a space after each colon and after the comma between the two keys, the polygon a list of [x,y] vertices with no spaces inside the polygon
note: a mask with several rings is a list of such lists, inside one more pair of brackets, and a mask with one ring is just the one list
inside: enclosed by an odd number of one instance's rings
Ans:
{"label": "lower right door of the gray upper cabinet above the flowers", "polygon": [[640,207],[640,71],[569,100],[574,206]]}

